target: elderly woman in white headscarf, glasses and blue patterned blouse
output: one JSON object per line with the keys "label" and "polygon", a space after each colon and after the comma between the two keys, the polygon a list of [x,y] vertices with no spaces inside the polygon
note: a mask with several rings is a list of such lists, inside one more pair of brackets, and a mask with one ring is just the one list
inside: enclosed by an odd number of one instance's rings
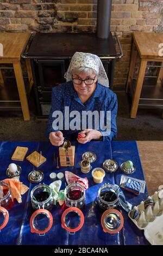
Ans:
{"label": "elderly woman in white headscarf, glasses and blue patterned blouse", "polygon": [[101,59],[91,53],[74,53],[66,82],[52,90],[47,126],[52,145],[60,146],[64,139],[82,144],[115,139],[117,97],[108,87]]}

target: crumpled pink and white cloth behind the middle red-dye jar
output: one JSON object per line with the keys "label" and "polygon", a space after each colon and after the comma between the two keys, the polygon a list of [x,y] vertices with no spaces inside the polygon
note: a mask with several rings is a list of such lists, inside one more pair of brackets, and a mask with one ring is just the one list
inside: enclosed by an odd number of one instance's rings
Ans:
{"label": "crumpled pink and white cloth behind the middle red-dye jar", "polygon": [[82,185],[85,190],[89,187],[89,182],[88,182],[87,178],[81,178],[81,177],[73,174],[73,172],[71,172],[71,171],[65,171],[65,177],[66,177],[67,184],[77,182],[80,185]]}

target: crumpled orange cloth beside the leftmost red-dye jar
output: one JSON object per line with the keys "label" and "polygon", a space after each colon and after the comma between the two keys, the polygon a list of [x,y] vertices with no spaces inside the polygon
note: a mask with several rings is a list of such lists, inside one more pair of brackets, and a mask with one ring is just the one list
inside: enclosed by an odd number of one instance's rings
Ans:
{"label": "crumpled orange cloth beside the leftmost red-dye jar", "polygon": [[17,176],[14,178],[6,178],[3,181],[10,185],[12,201],[15,198],[18,203],[22,203],[21,195],[26,193],[29,188],[24,185],[23,182],[21,182],[19,179],[20,176]]}

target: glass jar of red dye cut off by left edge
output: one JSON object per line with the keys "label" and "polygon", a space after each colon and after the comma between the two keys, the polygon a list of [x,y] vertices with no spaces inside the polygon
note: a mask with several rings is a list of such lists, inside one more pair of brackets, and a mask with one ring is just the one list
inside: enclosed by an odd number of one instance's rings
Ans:
{"label": "glass jar of red dye cut off by left edge", "polygon": [[11,198],[11,189],[8,183],[0,181],[0,206],[10,210],[14,201]]}

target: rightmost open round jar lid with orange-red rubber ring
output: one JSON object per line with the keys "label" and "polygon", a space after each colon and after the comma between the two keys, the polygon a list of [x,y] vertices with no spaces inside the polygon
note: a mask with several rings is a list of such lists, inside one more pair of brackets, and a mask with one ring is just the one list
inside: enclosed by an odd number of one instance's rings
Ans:
{"label": "rightmost open round jar lid with orange-red rubber ring", "polygon": [[116,234],[123,228],[123,216],[116,209],[106,210],[101,218],[101,224],[105,233]]}

